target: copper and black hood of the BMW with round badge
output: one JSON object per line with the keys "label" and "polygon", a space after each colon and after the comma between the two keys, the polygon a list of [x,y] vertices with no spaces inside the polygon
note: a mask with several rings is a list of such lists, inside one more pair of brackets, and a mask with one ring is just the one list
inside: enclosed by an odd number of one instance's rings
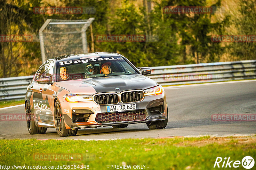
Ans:
{"label": "copper and black hood of the BMW with round badge", "polygon": [[[57,86],[67,89],[73,94],[95,94],[102,92],[120,93],[124,90],[148,89],[156,85],[155,81],[141,74],[95,77],[57,82]],[[120,88],[120,90],[116,90],[115,88]]]}

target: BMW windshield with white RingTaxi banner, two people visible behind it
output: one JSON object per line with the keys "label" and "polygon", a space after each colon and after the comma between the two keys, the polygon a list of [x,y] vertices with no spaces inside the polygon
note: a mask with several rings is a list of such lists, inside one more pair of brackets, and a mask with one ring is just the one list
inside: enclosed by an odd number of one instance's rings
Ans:
{"label": "BMW windshield with white RingTaxi banner, two people visible behind it", "polygon": [[81,58],[60,61],[57,81],[128,74],[138,73],[122,57]]}

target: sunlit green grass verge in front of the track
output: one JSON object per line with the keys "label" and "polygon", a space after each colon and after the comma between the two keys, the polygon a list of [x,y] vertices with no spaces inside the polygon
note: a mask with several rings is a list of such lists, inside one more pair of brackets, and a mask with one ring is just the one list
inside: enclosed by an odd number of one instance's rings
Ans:
{"label": "sunlit green grass verge in front of the track", "polygon": [[[85,136],[86,137],[86,136]],[[216,169],[216,157],[242,160],[256,158],[256,136],[228,138],[142,138],[107,141],[0,140],[1,165],[89,165],[111,169],[111,165],[146,165],[145,169]],[[82,160],[35,160],[34,154],[82,154]],[[87,156],[87,158],[85,158]],[[241,166],[241,165],[240,165]],[[109,167],[109,168],[108,168]],[[148,168],[147,168],[148,167]],[[242,167],[243,168],[243,167]],[[112,168],[113,169],[113,168]],[[131,168],[133,169],[133,168]],[[239,169],[239,168],[238,168]],[[241,167],[240,167],[241,169]]]}

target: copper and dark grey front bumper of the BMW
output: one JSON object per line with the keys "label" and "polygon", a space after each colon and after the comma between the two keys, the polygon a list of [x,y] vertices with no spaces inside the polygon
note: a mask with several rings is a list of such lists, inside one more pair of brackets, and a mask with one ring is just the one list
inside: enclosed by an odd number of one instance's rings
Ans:
{"label": "copper and dark grey front bumper of the BMW", "polygon": [[[98,105],[92,101],[90,102],[77,102],[69,103],[66,101],[61,102],[61,109],[63,113],[63,119],[67,129],[80,129],[80,128],[96,128],[100,126],[112,126],[119,124],[136,124],[136,123],[147,123],[152,121],[165,120],[167,117],[167,103],[165,93],[160,95],[145,96],[144,99],[136,103],[137,110],[144,110],[146,117],[143,120],[132,120],[132,121],[118,121],[118,122],[106,122],[98,123],[96,119],[97,114],[107,113],[107,107]],[[118,103],[124,104],[124,103]],[[127,103],[125,103],[127,104]],[[160,109],[162,107],[162,109]],[[86,109],[91,111],[89,118],[86,122],[74,122],[72,120],[72,111],[78,109]],[[68,111],[67,111],[68,110]],[[157,111],[158,110],[158,111]],[[116,112],[117,113],[117,112]],[[122,114],[122,112],[118,112]],[[111,112],[108,114],[111,114]]]}

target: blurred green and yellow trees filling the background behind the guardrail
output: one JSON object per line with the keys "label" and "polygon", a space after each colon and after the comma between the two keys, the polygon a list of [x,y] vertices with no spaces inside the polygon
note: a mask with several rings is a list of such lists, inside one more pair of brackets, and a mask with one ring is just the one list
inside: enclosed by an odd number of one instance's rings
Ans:
{"label": "blurred green and yellow trees filling the background behind the guardrail", "polygon": [[[94,51],[117,52],[123,54],[137,67],[192,64],[233,60],[227,55],[236,56],[234,60],[255,59],[255,43],[216,43],[212,35],[225,35],[230,25],[235,25],[236,34],[255,34],[255,2],[240,0],[237,13],[212,14],[167,14],[165,6],[221,6],[222,1],[161,0],[149,1],[151,10],[142,2],[122,0],[0,0],[0,33],[33,34],[46,19],[88,19],[92,23]],[[143,1],[147,2],[147,1]],[[212,3],[213,2],[213,3]],[[212,3],[212,4],[211,4]],[[95,14],[35,14],[36,6],[80,6],[95,7]],[[4,9],[4,7],[6,7]],[[3,15],[7,10],[7,15]],[[12,16],[12,20],[10,20]],[[8,20],[9,19],[9,20]],[[8,22],[7,22],[8,21]],[[15,28],[13,30],[13,28]],[[12,32],[10,33],[10,30]],[[97,35],[153,35],[155,42],[99,42]],[[92,52],[90,28],[87,40]],[[4,50],[2,50],[4,49]],[[31,75],[41,64],[39,42],[1,42],[0,43],[0,77]],[[9,52],[9,53],[8,53]],[[12,53],[19,55],[12,56]],[[29,67],[26,67],[28,63]]]}

